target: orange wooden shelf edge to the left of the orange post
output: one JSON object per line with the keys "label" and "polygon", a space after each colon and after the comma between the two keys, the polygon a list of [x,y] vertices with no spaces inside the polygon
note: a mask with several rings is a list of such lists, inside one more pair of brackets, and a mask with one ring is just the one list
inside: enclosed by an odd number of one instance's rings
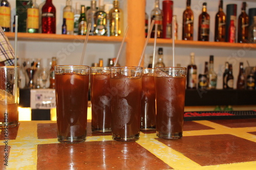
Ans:
{"label": "orange wooden shelf edge to the left of the orange post", "polygon": [[[15,37],[14,33],[5,33],[6,36],[13,40]],[[82,35],[61,35],[61,34],[40,34],[40,33],[18,33],[17,34],[18,40],[29,40],[29,41],[73,41],[77,40],[84,40],[86,36]],[[107,37],[107,36],[89,36],[88,42],[121,42],[122,37]]]}

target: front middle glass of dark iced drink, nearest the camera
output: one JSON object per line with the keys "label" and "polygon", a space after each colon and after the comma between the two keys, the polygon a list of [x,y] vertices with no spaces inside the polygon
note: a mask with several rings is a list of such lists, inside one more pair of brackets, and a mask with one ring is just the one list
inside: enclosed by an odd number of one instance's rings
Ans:
{"label": "front middle glass of dark iced drink, nearest the camera", "polygon": [[117,141],[140,135],[142,67],[111,67],[111,128]]}

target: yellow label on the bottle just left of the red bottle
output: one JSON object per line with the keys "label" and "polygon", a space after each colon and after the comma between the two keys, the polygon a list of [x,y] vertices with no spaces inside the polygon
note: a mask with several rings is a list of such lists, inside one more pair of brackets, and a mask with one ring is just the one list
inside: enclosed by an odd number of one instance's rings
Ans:
{"label": "yellow label on the bottle just left of the red bottle", "polygon": [[27,29],[39,29],[39,10],[36,8],[28,8]]}

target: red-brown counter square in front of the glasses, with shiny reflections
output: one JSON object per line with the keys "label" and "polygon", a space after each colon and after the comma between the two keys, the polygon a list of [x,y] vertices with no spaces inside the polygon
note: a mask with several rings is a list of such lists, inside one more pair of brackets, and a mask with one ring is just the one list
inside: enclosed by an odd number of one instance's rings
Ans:
{"label": "red-brown counter square in front of the glasses, with shiny reflections", "polygon": [[39,144],[37,169],[170,169],[136,142]]}

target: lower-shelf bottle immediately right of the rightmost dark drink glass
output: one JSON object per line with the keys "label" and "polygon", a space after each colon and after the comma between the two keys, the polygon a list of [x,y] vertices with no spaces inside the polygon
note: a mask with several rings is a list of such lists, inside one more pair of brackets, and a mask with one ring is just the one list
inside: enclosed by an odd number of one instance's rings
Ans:
{"label": "lower-shelf bottle immediately right of the rightmost dark drink glass", "polygon": [[190,53],[190,64],[187,66],[187,89],[196,89],[197,66],[195,65],[195,53]]}

